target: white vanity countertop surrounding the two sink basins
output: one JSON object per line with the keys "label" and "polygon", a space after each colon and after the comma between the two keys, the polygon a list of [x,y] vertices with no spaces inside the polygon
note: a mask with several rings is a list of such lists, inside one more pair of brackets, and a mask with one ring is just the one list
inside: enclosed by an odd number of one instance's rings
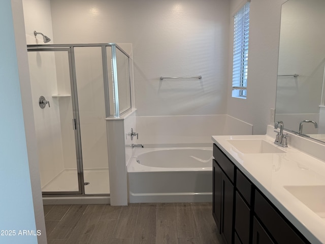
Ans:
{"label": "white vanity countertop surrounding the two sink basins", "polygon": [[[212,141],[311,243],[325,243],[325,212],[316,214],[286,190],[297,186],[325,189],[325,162],[290,144],[286,148],[276,146],[274,138],[270,135],[212,136]],[[243,154],[229,142],[239,139],[263,139],[284,153]],[[320,195],[325,209],[325,190]]]}

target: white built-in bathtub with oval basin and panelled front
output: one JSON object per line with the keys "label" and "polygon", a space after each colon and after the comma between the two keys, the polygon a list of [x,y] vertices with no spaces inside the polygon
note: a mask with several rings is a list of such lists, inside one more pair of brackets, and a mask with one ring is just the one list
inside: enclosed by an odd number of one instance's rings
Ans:
{"label": "white built-in bathtub with oval basin and panelled front", "polygon": [[211,202],[212,146],[136,148],[127,164],[129,202]]}

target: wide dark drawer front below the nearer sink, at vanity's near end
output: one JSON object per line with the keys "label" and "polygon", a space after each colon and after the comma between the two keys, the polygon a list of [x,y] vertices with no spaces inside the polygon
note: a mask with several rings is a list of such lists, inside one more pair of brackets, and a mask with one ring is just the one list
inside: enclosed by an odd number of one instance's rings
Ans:
{"label": "wide dark drawer front below the nearer sink, at vanity's near end", "polygon": [[254,210],[256,216],[262,221],[277,243],[309,243],[299,236],[298,230],[291,227],[285,217],[280,215],[276,208],[257,190],[255,191]]}

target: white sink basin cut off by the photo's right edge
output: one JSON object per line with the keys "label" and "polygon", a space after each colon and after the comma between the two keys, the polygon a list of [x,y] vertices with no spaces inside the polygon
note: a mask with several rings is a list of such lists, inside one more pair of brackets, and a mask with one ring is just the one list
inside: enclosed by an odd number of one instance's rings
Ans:
{"label": "white sink basin cut off by the photo's right edge", "polygon": [[284,188],[325,219],[325,186],[284,186]]}

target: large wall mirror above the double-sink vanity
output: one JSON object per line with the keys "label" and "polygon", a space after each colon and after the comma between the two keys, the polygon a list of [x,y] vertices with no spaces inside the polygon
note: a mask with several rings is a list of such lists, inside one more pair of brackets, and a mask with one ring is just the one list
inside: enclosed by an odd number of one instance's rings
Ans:
{"label": "large wall mirror above the double-sink vanity", "polygon": [[294,132],[302,125],[301,134],[325,142],[324,68],[325,1],[288,0],[281,9],[275,121]]}

